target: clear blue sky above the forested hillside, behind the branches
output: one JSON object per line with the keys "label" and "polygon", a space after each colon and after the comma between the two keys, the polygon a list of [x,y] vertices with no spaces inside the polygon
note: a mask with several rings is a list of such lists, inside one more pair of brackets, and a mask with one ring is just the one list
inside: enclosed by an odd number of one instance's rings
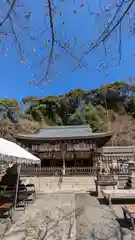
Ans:
{"label": "clear blue sky above the forested hillside, behind the branches", "polygon": [[[79,1],[80,3],[84,1]],[[96,1],[95,1],[96,2]],[[65,1],[64,4],[68,4],[67,1]],[[63,5],[60,6],[62,8],[61,11],[63,11],[63,19],[65,21],[65,29],[67,32],[67,38],[72,38],[73,35],[77,37],[78,42],[85,41],[87,42],[89,39],[96,39],[97,36],[102,32],[102,25],[104,22],[100,23],[99,18],[96,20],[90,19],[90,16],[88,15],[88,9],[87,8],[80,8],[80,5],[71,5],[72,8],[68,8],[68,10],[64,11]],[[69,4],[68,4],[69,5]],[[93,4],[94,5],[94,4]],[[31,8],[31,5],[29,6]],[[39,8],[39,13],[42,13],[42,5]],[[74,9],[77,11],[77,14],[73,13]],[[95,3],[94,10],[99,11],[99,6]],[[33,5],[32,11],[36,12],[36,4]],[[34,15],[34,13],[33,13]],[[70,16],[70,19],[68,18]],[[111,17],[111,16],[109,16]],[[88,31],[88,28],[85,28],[85,23],[90,21],[89,28],[91,29]],[[38,24],[42,26],[43,19],[39,18],[39,14],[35,13],[33,17],[33,22],[36,21]],[[81,20],[80,20],[81,19]],[[83,20],[82,20],[83,19]],[[62,31],[61,26],[59,26],[59,18],[56,15],[55,18],[56,26],[58,28],[58,32]],[[103,19],[103,21],[106,21]],[[51,83],[45,83],[44,88],[35,87],[34,85],[29,84],[29,80],[31,79],[31,76],[33,72],[39,71],[35,66],[25,69],[23,64],[17,63],[17,54],[14,47],[11,46],[11,43],[7,43],[8,46],[8,54],[7,56],[3,56],[3,54],[0,54],[0,78],[1,78],[1,87],[0,87],[0,97],[1,98],[17,98],[18,100],[21,100],[23,97],[27,96],[46,96],[46,95],[58,95],[65,93],[69,91],[70,89],[75,88],[83,88],[83,89],[91,89],[96,88],[100,86],[101,84],[105,83],[111,83],[113,81],[117,80],[127,80],[129,77],[135,76],[135,68],[134,68],[134,62],[135,62],[135,45],[134,45],[134,37],[129,37],[128,31],[126,31],[127,25],[123,23],[123,37],[122,37],[122,60],[121,64],[118,64],[118,58],[117,58],[117,51],[115,49],[115,46],[117,44],[117,39],[115,36],[112,36],[111,42],[107,43],[107,48],[110,47],[112,49],[113,55],[110,56],[108,54],[107,59],[104,56],[104,50],[103,46],[100,48],[92,51],[90,55],[85,59],[85,62],[88,63],[87,69],[81,69],[72,71],[72,67],[68,67],[69,64],[72,62],[72,59],[69,57],[67,58],[67,62],[57,62],[54,66],[52,66],[51,71]],[[72,24],[72,22],[74,24]],[[47,24],[47,23],[46,23]],[[71,26],[72,25],[72,26]],[[78,26],[79,25],[79,26]],[[57,29],[56,28],[56,29]],[[95,30],[96,29],[96,30]],[[36,28],[33,29],[36,31]],[[49,33],[47,33],[49,35]],[[82,37],[83,36],[83,37]],[[23,36],[21,41],[25,42],[25,37]],[[44,36],[45,38],[46,36]],[[40,41],[36,42],[36,47],[38,48],[38,44],[41,43]],[[33,44],[33,43],[32,43]],[[74,53],[76,56],[81,56],[82,50],[79,49],[79,44],[74,49]],[[26,44],[27,45],[27,44]],[[87,44],[86,44],[87,45]],[[33,45],[32,45],[33,46]],[[27,47],[27,46],[25,46]],[[28,47],[31,47],[31,44],[28,45]],[[58,49],[59,50],[59,49]],[[41,50],[36,50],[38,53],[41,53]],[[61,52],[60,52],[61,53]],[[115,56],[115,57],[114,57]],[[67,57],[64,53],[64,57]],[[31,60],[31,59],[30,59]],[[108,66],[108,69],[106,71],[100,69],[100,64],[106,64]],[[55,71],[54,71],[54,69]],[[60,75],[56,75],[56,71],[60,72]],[[41,69],[40,69],[41,71]],[[53,73],[54,71],[54,73]]]}

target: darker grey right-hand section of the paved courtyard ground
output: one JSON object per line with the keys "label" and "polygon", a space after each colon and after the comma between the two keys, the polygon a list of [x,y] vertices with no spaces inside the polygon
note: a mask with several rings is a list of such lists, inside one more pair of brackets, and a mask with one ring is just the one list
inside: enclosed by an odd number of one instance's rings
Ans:
{"label": "darker grey right-hand section of the paved courtyard ground", "polygon": [[[76,208],[83,206],[82,214],[76,218],[76,240],[133,240],[134,232],[124,229],[116,220],[116,207],[99,204],[98,200],[87,194],[75,196]],[[119,217],[122,212],[120,206]]]}

